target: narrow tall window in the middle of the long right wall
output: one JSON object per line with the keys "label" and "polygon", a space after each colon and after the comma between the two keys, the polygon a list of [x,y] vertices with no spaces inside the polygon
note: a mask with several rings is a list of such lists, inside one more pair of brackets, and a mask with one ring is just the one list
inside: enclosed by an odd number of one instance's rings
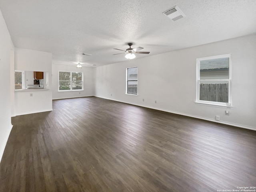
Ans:
{"label": "narrow tall window in the middle of the long right wall", "polygon": [[127,68],[127,94],[137,95],[138,67]]}

